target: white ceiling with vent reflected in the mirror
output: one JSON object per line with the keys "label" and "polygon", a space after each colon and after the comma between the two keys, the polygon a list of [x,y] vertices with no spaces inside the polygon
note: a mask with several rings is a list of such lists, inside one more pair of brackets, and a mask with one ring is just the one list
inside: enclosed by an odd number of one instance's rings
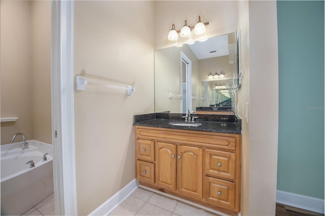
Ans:
{"label": "white ceiling with vent reflected in the mirror", "polygon": [[196,43],[188,46],[198,59],[229,55],[228,34],[210,38],[205,42],[197,41]]}

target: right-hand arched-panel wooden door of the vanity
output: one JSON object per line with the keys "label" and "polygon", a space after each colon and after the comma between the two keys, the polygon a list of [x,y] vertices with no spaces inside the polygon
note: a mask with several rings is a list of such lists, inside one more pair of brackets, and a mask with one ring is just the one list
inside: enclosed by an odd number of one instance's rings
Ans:
{"label": "right-hand arched-panel wooden door of the vanity", "polygon": [[178,146],[178,191],[180,193],[202,198],[203,149]]}

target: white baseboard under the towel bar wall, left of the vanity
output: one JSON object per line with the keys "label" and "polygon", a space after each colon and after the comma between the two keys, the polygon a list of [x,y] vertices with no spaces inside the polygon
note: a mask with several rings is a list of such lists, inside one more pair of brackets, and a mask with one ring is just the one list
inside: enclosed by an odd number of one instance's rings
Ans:
{"label": "white baseboard under the towel bar wall, left of the vanity", "polygon": [[119,190],[111,198],[105,201],[102,205],[92,211],[89,215],[108,215],[113,211],[121,202],[124,201],[130,194],[138,188],[136,179],[133,179],[124,188]]}

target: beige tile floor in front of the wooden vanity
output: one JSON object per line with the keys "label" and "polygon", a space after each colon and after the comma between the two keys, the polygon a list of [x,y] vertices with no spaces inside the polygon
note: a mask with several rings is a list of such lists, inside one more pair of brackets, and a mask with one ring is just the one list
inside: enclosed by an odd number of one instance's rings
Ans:
{"label": "beige tile floor in front of the wooden vanity", "polygon": [[217,215],[175,199],[136,189],[110,215]]}

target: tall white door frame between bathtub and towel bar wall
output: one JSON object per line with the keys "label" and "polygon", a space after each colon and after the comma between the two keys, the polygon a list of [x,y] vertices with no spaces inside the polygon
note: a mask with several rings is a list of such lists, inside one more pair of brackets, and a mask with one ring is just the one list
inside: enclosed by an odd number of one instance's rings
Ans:
{"label": "tall white door frame between bathtub and towel bar wall", "polygon": [[77,215],[73,1],[52,1],[51,99],[56,215]]}

